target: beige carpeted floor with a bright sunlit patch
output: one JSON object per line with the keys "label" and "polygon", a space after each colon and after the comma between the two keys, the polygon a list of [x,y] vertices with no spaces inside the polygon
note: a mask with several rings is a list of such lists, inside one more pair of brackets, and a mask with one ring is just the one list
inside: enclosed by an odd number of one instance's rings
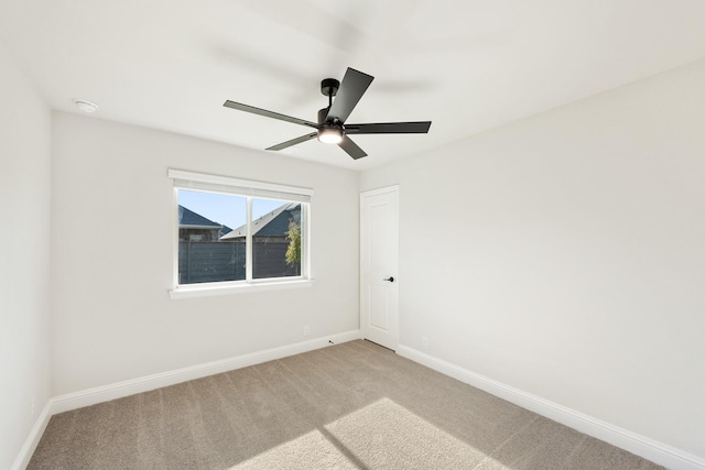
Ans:
{"label": "beige carpeted floor with a bright sunlit patch", "polygon": [[351,341],[52,417],[29,469],[658,469]]}

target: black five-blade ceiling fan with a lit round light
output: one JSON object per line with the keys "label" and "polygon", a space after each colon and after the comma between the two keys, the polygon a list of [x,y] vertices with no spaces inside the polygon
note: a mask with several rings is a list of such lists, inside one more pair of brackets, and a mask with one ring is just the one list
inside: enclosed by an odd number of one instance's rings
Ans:
{"label": "black five-blade ceiling fan with a lit round light", "polygon": [[[321,142],[337,144],[346,151],[352,159],[361,159],[367,153],[360,149],[348,134],[425,134],[429,132],[431,121],[420,122],[380,122],[366,124],[346,124],[345,121],[355,109],[360,98],[370,86],[375,77],[348,67],[343,83],[335,78],[325,78],[321,81],[321,92],[328,97],[328,107],[318,111],[318,122],[306,121],[305,119],[292,118],[279,112],[268,111],[253,106],[242,105],[226,100],[223,106],[251,112],[280,121],[293,122],[294,124],[306,125],[315,129],[306,135],[272,145],[267,150],[283,150],[292,145],[306,142],[313,138],[318,138]],[[333,97],[336,97],[335,100]]]}

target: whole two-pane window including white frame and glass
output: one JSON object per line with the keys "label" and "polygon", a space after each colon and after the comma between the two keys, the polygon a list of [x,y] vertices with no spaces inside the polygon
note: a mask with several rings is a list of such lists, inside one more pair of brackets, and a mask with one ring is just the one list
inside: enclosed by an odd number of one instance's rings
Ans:
{"label": "whole two-pane window including white frame and glass", "polygon": [[172,297],[308,283],[312,189],[180,170],[169,176]]}

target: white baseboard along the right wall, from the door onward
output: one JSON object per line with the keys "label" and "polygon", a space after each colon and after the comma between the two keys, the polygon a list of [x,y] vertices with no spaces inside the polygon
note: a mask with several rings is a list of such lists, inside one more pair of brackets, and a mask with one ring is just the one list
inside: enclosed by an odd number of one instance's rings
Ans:
{"label": "white baseboard along the right wall, from the door onward", "polygon": [[397,353],[669,469],[705,470],[705,460],[699,457],[630,430],[622,429],[575,409],[558,405],[557,403],[543,400],[519,389],[434,358],[425,352],[406,346],[399,346]]}

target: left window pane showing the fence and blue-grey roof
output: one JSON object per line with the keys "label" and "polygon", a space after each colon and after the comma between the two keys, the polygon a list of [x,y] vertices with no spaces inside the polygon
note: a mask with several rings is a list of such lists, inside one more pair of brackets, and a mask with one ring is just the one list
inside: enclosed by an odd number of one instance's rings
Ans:
{"label": "left window pane showing the fence and blue-grey roof", "polygon": [[178,284],[246,277],[247,198],[178,190]]}

